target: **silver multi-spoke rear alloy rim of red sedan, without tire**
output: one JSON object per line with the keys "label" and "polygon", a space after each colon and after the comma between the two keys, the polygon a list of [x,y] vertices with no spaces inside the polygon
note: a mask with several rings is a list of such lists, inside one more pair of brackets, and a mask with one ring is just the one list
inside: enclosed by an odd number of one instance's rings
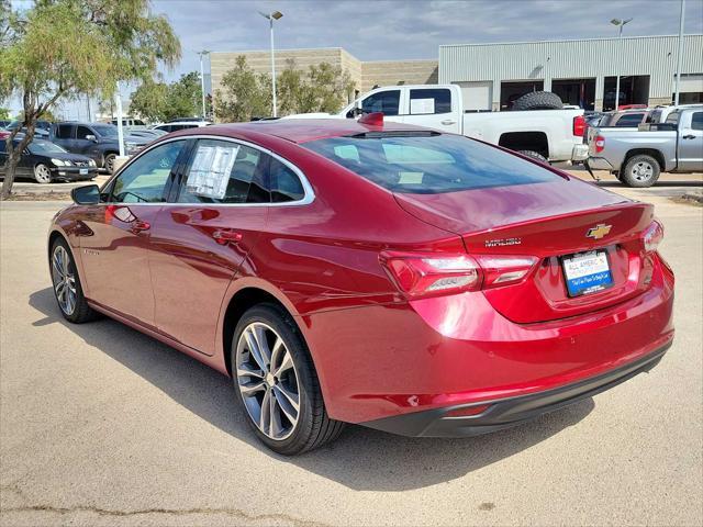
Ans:
{"label": "silver multi-spoke rear alloy rim of red sedan, without tire", "polygon": [[270,439],[289,437],[300,415],[298,370],[286,343],[269,325],[254,322],[239,336],[236,375],[249,417]]}

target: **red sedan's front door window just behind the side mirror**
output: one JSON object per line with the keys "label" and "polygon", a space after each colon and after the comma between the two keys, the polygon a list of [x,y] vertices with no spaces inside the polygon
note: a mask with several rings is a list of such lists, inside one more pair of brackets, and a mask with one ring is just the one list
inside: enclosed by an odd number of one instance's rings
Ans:
{"label": "red sedan's front door window just behind the side mirror", "polygon": [[159,203],[164,189],[185,141],[157,146],[137,157],[126,167],[112,187],[112,199],[118,203]]}

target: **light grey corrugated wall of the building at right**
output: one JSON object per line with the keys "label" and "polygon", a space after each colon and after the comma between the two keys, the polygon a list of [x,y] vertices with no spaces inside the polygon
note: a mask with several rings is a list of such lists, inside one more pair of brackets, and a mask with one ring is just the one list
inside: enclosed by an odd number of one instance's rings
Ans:
{"label": "light grey corrugated wall of the building at right", "polygon": [[[685,35],[683,74],[703,74],[703,35]],[[673,92],[678,36],[635,36],[581,41],[439,46],[439,82],[492,81],[493,109],[501,82],[595,78],[595,105],[603,101],[605,77],[648,75],[649,102],[668,103]]]}

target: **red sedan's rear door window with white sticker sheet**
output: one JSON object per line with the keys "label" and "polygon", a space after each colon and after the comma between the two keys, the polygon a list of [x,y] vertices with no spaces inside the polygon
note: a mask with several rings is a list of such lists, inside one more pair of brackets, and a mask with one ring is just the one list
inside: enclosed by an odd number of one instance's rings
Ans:
{"label": "red sedan's rear door window with white sticker sheet", "polygon": [[230,141],[200,139],[179,203],[268,203],[265,154]]}

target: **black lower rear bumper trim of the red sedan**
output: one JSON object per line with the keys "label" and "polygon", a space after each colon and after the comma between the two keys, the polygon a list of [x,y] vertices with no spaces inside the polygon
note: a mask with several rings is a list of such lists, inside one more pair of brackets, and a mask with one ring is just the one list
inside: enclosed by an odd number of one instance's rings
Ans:
{"label": "black lower rear bumper trim of the red sedan", "polygon": [[[649,371],[659,363],[670,346],[671,341],[629,365],[554,390],[468,405],[446,406],[360,424],[391,434],[412,437],[468,437],[510,428],[542,414],[591,397],[638,373]],[[459,417],[449,415],[460,411],[470,413],[471,408],[476,408],[478,413]]]}

